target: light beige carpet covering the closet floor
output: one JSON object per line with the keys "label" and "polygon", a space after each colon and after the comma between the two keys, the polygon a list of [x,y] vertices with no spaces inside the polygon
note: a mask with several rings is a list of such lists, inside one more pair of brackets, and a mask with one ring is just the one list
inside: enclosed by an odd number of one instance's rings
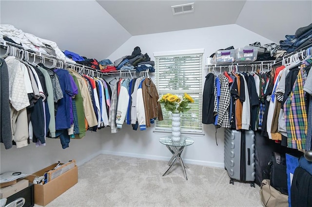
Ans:
{"label": "light beige carpet covering the closet floor", "polygon": [[[78,168],[78,183],[47,207],[261,207],[259,187],[229,184],[224,169],[187,164],[165,176],[167,162],[98,155]],[[35,205],[38,207],[38,205]]]}

